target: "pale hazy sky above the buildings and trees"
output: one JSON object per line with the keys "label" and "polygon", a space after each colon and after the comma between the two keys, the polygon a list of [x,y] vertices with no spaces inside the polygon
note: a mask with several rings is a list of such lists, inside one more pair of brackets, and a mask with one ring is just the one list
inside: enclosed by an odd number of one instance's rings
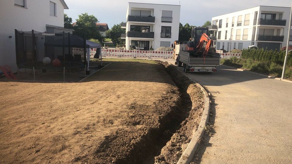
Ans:
{"label": "pale hazy sky above the buildings and trees", "polygon": [[75,22],[78,15],[87,12],[100,23],[114,24],[126,21],[128,2],[181,5],[180,22],[184,25],[202,26],[212,17],[252,8],[259,5],[290,7],[291,0],[65,0],[69,9],[64,13]]}

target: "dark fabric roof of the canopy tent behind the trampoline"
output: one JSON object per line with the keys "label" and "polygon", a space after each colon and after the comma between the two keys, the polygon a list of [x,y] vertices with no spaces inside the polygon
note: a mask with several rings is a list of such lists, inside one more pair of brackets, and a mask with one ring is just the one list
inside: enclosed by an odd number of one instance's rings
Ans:
{"label": "dark fabric roof of the canopy tent behind the trampoline", "polygon": [[[51,37],[51,36],[49,36]],[[60,37],[59,37],[60,38]],[[70,47],[84,48],[84,40],[82,37],[70,34]],[[48,40],[46,46],[63,47],[63,38],[57,40]],[[68,36],[64,38],[64,47],[69,47]],[[100,48],[101,44],[86,40],[86,48]]]}

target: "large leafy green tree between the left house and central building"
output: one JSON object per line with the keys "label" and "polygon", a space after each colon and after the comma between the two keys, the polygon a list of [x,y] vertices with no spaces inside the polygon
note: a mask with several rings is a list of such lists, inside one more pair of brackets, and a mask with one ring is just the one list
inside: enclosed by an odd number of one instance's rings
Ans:
{"label": "large leafy green tree between the left house and central building", "polygon": [[86,39],[98,39],[100,42],[103,41],[103,36],[100,35],[96,23],[99,22],[97,18],[93,15],[88,15],[87,13],[79,15],[76,19],[76,24],[78,26],[73,27],[74,34],[80,37],[84,36],[86,33]]}

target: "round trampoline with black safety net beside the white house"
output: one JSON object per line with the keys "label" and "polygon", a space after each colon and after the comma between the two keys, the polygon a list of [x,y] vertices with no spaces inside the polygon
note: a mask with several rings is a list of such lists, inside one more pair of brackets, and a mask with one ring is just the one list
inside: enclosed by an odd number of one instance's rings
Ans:
{"label": "round trampoline with black safety net beside the white house", "polygon": [[[15,29],[17,71],[20,68],[35,70],[62,70],[65,81],[65,70],[79,69],[89,71],[90,48],[99,48],[100,44],[65,32],[46,33],[37,31],[18,31]],[[76,53],[78,49],[79,53]],[[80,53],[81,52],[81,53]],[[60,65],[52,62],[44,64],[43,59],[59,60]]]}

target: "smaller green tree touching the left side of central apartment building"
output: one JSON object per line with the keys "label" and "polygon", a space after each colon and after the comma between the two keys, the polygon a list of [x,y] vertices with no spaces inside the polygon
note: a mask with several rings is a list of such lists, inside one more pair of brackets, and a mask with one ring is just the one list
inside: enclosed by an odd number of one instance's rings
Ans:
{"label": "smaller green tree touching the left side of central apartment building", "polygon": [[110,30],[106,31],[106,37],[109,37],[113,43],[125,44],[125,39],[121,39],[121,34],[126,33],[126,29],[121,28],[120,24],[115,24]]}

